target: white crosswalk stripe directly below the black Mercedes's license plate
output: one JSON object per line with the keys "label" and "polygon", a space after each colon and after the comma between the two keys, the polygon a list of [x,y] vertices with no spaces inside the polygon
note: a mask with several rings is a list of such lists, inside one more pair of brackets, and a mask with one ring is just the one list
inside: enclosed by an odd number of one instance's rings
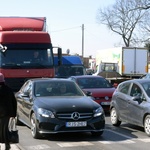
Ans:
{"label": "white crosswalk stripe directly below the black Mercedes's license plate", "polygon": [[57,143],[60,147],[76,147],[76,146],[90,146],[93,145],[90,142],[62,142]]}

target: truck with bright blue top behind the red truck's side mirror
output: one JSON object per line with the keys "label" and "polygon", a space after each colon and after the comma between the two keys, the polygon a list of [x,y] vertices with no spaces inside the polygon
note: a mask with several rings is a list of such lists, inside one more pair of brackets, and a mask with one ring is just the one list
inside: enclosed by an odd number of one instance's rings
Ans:
{"label": "truck with bright blue top behind the red truck's side mirror", "polygon": [[86,69],[79,56],[62,56],[61,62],[62,64],[58,65],[58,56],[54,56],[55,77],[57,78],[86,74]]}

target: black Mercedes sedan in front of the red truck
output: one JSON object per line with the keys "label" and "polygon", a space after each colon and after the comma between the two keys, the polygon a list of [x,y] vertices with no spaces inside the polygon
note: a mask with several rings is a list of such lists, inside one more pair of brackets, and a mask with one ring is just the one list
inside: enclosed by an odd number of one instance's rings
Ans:
{"label": "black Mercedes sedan in front of the red truck", "polygon": [[103,108],[68,79],[29,79],[15,94],[17,123],[31,128],[33,138],[62,132],[102,135]]}

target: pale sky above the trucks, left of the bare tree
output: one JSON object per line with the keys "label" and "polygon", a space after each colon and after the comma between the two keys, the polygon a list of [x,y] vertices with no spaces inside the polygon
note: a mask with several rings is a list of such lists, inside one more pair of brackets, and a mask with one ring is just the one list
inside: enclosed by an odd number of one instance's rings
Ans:
{"label": "pale sky above the trucks, left of the bare tree", "polygon": [[63,53],[82,54],[82,24],[84,24],[84,57],[104,48],[112,48],[120,36],[97,23],[97,11],[113,4],[115,0],[4,0],[1,16],[46,17],[53,46]]}

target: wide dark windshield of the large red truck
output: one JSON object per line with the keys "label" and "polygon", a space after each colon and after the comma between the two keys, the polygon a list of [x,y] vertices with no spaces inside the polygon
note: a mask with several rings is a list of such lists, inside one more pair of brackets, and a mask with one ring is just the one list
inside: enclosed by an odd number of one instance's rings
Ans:
{"label": "wide dark windshield of the large red truck", "polygon": [[53,66],[50,49],[6,50],[0,52],[1,68],[48,68]]}

